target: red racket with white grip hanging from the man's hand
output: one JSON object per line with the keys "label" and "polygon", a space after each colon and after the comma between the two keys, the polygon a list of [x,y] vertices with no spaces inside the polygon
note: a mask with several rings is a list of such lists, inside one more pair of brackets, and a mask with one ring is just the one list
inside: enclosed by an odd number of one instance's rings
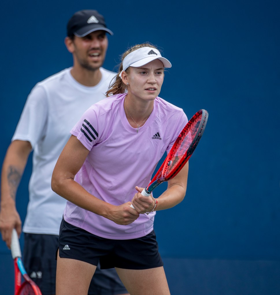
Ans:
{"label": "red racket with white grip hanging from the man's hand", "polygon": [[[27,275],[21,260],[20,242],[17,232],[12,232],[12,258],[14,259],[14,295],[42,295],[39,287]],[[22,283],[21,276],[24,278]]]}

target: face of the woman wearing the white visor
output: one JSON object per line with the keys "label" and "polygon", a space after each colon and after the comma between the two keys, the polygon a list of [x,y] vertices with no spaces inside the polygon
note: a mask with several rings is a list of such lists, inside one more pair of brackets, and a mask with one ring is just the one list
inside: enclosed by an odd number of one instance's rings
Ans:
{"label": "face of the woman wearing the white visor", "polygon": [[161,91],[163,78],[164,66],[159,59],[140,68],[130,67],[128,94],[143,100],[154,100]]}

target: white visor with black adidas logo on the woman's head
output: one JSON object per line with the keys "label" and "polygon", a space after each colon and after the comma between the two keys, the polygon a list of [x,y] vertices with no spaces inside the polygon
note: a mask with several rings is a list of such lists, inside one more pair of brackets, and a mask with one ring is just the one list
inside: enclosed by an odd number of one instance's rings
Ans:
{"label": "white visor with black adidas logo on the woman's head", "polygon": [[119,76],[121,77],[122,72],[128,67],[139,68],[155,59],[161,60],[165,68],[171,68],[170,61],[162,57],[156,48],[142,47],[132,51],[124,58],[122,61],[123,70],[120,72]]}

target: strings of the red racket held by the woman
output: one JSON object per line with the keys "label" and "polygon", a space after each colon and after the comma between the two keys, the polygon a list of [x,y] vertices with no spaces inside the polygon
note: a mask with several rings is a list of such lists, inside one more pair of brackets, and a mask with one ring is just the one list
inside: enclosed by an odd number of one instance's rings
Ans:
{"label": "strings of the red racket held by the woman", "polygon": [[173,171],[182,158],[187,157],[188,151],[190,151],[194,146],[201,117],[202,116],[200,114],[198,117],[194,118],[194,120],[190,122],[190,124],[188,124],[182,131],[181,137],[177,140],[177,144],[173,147],[173,152],[164,167],[164,177]]}

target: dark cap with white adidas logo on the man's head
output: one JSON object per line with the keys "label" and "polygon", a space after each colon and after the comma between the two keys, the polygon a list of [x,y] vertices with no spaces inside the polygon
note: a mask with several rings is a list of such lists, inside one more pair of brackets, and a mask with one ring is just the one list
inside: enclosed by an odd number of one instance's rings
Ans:
{"label": "dark cap with white adidas logo on the man's head", "polygon": [[73,34],[77,37],[84,37],[91,32],[103,30],[113,35],[113,32],[107,29],[103,15],[96,10],[80,10],[75,12],[67,24],[67,36]]}

